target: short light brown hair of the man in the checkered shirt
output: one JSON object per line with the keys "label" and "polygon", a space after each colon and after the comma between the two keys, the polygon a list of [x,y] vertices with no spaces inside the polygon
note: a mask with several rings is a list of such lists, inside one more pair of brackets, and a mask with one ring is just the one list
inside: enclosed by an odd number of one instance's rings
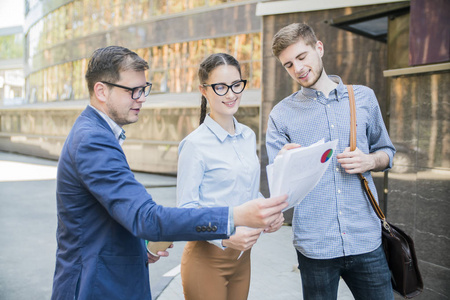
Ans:
{"label": "short light brown hair of the man in the checkered shirt", "polygon": [[314,30],[305,23],[293,23],[281,28],[272,39],[273,55],[279,57],[281,52],[292,44],[303,39],[306,45],[314,47],[317,37]]}

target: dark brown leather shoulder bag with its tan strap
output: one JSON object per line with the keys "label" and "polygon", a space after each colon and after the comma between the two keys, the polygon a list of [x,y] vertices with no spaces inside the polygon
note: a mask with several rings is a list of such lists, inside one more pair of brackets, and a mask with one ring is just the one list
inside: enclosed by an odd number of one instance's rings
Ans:
{"label": "dark brown leather shoulder bag with its tan strap", "polygon": [[[353,87],[347,85],[350,99],[350,150],[356,149],[356,105]],[[367,194],[373,210],[382,223],[382,241],[386,260],[391,270],[391,282],[394,291],[405,297],[413,298],[423,290],[422,276],[417,264],[414,242],[403,230],[388,223],[378,206],[367,179],[358,174],[364,191]]]}

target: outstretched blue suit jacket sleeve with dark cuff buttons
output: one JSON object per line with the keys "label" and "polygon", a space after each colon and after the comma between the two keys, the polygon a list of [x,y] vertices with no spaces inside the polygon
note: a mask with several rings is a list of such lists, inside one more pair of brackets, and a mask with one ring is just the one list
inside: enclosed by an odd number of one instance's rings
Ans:
{"label": "outstretched blue suit jacket sleeve with dark cuff buttons", "polygon": [[[133,235],[147,240],[227,238],[228,208],[170,208],[157,205],[134,178],[111,132],[83,131],[72,149],[77,173],[109,215]],[[215,230],[202,231],[202,226]]]}

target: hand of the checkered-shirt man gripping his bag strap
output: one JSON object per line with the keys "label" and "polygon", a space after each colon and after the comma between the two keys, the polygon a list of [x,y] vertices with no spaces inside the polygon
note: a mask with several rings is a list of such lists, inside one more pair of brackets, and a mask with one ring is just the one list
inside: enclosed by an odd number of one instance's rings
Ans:
{"label": "hand of the checkered-shirt man gripping his bag strap", "polygon": [[355,151],[350,151],[350,148],[347,147],[336,158],[345,172],[349,174],[364,173],[372,170],[381,171],[389,164],[389,156],[384,151],[365,154],[358,148]]}

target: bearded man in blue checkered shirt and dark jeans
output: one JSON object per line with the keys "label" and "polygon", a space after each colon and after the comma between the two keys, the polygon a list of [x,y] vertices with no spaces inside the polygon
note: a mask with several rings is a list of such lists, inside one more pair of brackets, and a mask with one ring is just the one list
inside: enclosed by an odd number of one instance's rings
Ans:
{"label": "bearded man in blue checkered shirt and dark jeans", "polygon": [[[381,224],[357,176],[375,193],[370,171],[392,167],[395,148],[374,92],[353,87],[357,148],[350,151],[348,91],[323,67],[324,45],[306,24],[291,24],[273,38],[272,51],[301,89],[280,101],[269,116],[269,163],[288,149],[338,139],[330,166],[293,216],[304,299],[336,299],[342,277],[355,299],[394,299],[381,245]],[[336,155],[337,154],[337,155]]]}

